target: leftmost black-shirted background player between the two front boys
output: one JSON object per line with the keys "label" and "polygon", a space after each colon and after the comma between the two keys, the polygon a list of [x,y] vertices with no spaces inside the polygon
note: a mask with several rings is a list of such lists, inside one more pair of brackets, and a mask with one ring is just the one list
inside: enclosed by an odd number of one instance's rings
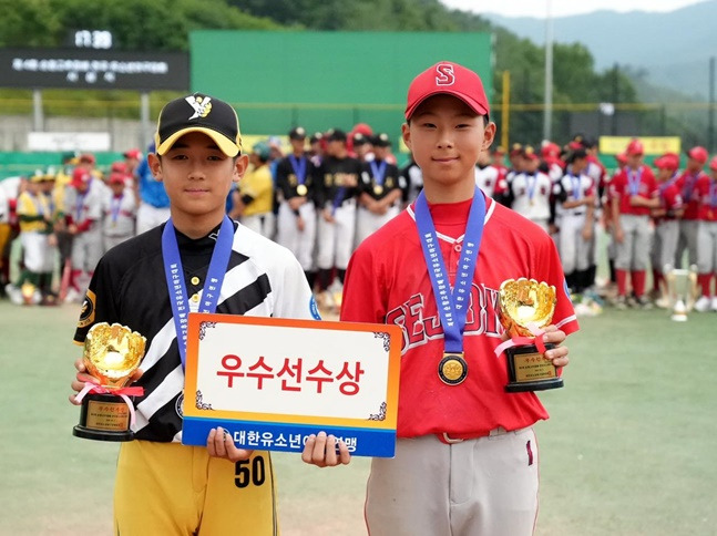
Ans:
{"label": "leftmost black-shirted background player between the two front boys", "polygon": [[276,240],[296,256],[313,289],[316,280],[316,173],[304,150],[306,131],[300,126],[291,128],[289,142],[291,154],[283,158],[276,168],[276,187],[280,198]]}

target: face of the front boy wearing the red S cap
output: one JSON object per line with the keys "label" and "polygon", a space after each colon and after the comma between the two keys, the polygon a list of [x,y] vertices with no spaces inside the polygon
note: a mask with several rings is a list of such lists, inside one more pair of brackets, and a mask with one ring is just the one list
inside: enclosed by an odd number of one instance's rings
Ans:
{"label": "face of the front boy wearing the red S cap", "polygon": [[423,101],[410,124],[403,124],[406,145],[423,173],[423,182],[440,185],[475,182],[473,171],[481,151],[488,151],[495,124],[484,124],[460,99],[433,95]]}

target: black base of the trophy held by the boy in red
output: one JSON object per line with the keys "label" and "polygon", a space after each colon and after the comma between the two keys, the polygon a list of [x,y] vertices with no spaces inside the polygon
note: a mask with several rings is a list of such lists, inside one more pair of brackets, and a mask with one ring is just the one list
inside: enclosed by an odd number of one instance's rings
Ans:
{"label": "black base of the trophy held by the boy in red", "polygon": [[[545,344],[546,350],[552,348],[555,344]],[[564,385],[563,379],[557,375],[557,369],[537,351],[535,344],[509,348],[505,355],[509,378],[505,392],[545,391]]]}

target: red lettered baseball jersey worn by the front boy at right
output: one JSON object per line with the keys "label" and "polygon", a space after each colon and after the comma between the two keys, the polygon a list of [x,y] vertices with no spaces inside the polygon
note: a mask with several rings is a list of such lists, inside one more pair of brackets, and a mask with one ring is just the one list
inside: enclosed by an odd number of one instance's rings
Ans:
{"label": "red lettered baseball jersey worn by the front boy at right", "polygon": [[[429,205],[451,284],[470,207],[470,200]],[[534,393],[504,391],[505,355],[494,353],[503,332],[498,291],[504,280],[521,277],[555,286],[553,323],[566,333],[578,329],[553,240],[535,224],[486,199],[463,338],[468,377],[459,385],[447,385],[438,375],[443,330],[412,206],[361,243],[346,275],[341,320],[402,329],[399,437],[488,434],[498,426],[516,430],[547,419]]]}

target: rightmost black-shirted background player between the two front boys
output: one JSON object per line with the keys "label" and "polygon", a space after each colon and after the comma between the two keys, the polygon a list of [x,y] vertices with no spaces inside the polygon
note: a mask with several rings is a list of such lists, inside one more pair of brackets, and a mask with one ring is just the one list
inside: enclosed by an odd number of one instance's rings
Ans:
{"label": "rightmost black-shirted background player between the two front boys", "polygon": [[386,161],[390,146],[388,134],[377,135],[373,140],[373,158],[363,163],[356,217],[357,245],[395,218],[401,209],[401,194],[407,185],[398,167]]}

